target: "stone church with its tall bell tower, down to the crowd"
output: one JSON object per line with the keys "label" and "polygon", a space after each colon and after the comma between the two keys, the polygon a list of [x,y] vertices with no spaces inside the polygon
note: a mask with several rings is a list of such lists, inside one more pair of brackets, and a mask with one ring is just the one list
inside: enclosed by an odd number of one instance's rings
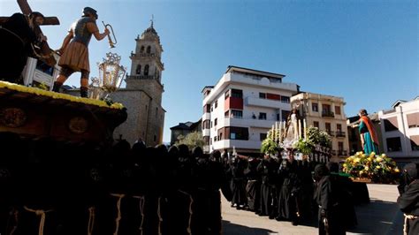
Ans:
{"label": "stone church with its tall bell tower, down to the crowd", "polygon": [[128,140],[131,145],[143,140],[148,146],[163,142],[164,114],[162,107],[163,48],[156,29],[147,28],[135,39],[131,52],[131,72],[126,75],[126,88],[110,94],[114,102],[121,102],[128,111],[126,122],[114,131],[114,139]]}

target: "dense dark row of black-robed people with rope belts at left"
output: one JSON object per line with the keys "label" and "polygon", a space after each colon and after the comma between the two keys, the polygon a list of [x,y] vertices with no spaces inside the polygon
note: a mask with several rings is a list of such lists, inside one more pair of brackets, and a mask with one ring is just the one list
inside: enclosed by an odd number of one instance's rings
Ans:
{"label": "dense dark row of black-robed people with rope belts at left", "polygon": [[[219,234],[219,153],[0,133],[1,234]],[[227,193],[228,195],[228,193]]]}

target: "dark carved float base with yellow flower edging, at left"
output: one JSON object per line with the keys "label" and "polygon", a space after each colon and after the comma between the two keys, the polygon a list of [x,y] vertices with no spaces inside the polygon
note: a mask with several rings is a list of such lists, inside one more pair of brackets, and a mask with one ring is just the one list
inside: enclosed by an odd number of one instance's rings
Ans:
{"label": "dark carved float base with yellow flower edging, at left", "polygon": [[0,81],[0,132],[64,141],[111,142],[126,109],[111,103]]}

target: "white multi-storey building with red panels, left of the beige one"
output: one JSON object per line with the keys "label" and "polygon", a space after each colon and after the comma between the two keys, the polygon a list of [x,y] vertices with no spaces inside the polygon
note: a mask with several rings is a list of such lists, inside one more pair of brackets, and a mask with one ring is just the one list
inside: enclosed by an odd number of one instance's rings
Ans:
{"label": "white multi-storey building with red panels, left of the beige one", "polygon": [[290,97],[299,92],[285,75],[228,66],[215,87],[204,87],[202,136],[204,151],[232,148],[260,153],[262,140],[275,121],[286,120]]}

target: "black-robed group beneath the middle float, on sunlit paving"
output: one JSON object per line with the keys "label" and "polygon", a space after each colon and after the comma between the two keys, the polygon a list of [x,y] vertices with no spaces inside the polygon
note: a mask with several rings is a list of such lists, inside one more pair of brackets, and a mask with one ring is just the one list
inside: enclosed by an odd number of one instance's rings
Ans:
{"label": "black-robed group beneath the middle float, on sunlit paving", "polygon": [[[293,225],[308,222],[317,214],[328,220],[330,234],[345,234],[357,224],[352,181],[339,175],[338,163],[259,158],[232,159],[226,163],[232,190],[232,207],[247,209]],[[224,158],[222,158],[224,159]],[[338,212],[339,213],[336,213]]]}

